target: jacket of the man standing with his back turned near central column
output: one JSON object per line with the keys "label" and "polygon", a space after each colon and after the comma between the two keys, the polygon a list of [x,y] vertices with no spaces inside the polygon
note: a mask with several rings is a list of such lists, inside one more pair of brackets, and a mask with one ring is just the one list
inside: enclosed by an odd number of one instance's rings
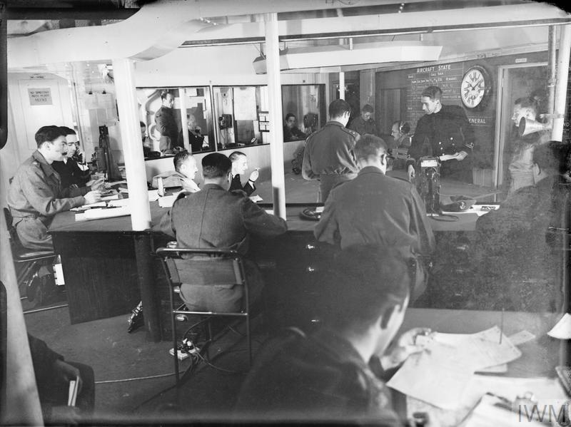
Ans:
{"label": "jacket of the man standing with his back turned near central column", "polygon": [[358,172],[355,163],[355,143],[360,135],[338,121],[325,123],[322,129],[305,141],[301,174],[306,180],[320,175],[348,175]]}

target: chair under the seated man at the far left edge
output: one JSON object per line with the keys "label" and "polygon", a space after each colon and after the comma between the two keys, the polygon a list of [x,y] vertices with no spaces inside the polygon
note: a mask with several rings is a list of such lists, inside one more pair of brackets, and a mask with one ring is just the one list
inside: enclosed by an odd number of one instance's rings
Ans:
{"label": "chair under the seated man at the far left edge", "polygon": [[50,250],[36,250],[23,247],[18,238],[18,233],[16,233],[16,227],[12,225],[12,214],[7,207],[4,207],[4,218],[6,219],[6,228],[9,233],[12,259],[14,264],[21,264],[21,269],[16,274],[16,281],[18,287],[20,287],[22,283],[31,279],[42,264],[47,260],[53,261],[57,255]]}

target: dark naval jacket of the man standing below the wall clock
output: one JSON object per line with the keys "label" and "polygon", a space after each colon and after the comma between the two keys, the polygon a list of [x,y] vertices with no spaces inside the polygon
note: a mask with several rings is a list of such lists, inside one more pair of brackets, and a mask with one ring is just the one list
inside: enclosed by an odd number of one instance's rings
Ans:
{"label": "dark naval jacket of the man standing below the wall clock", "polygon": [[[423,153],[424,143],[432,153]],[[408,150],[408,163],[418,161],[423,155],[440,156],[468,153],[474,148],[474,131],[460,106],[442,106],[438,113],[425,114],[416,124],[413,141]]]}

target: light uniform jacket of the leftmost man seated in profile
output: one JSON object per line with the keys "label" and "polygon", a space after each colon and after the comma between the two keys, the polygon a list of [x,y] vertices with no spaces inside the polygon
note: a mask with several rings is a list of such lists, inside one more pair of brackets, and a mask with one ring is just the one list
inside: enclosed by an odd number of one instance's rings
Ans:
{"label": "light uniform jacket of the leftmost man seated in profile", "polygon": [[84,194],[89,190],[89,187],[62,190],[58,173],[36,150],[18,168],[8,191],[14,225],[24,217],[34,217],[47,227],[56,213],[84,205]]}

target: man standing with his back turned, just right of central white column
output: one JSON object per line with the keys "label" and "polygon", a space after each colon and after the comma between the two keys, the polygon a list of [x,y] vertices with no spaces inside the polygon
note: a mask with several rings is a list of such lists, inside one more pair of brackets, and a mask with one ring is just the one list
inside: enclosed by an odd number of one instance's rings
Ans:
{"label": "man standing with his back turned, just right of central white column", "polygon": [[351,108],[343,99],[329,105],[329,121],[305,142],[301,175],[306,180],[319,180],[321,201],[340,182],[357,176],[357,164],[353,148],[359,139],[355,130],[345,128]]}

